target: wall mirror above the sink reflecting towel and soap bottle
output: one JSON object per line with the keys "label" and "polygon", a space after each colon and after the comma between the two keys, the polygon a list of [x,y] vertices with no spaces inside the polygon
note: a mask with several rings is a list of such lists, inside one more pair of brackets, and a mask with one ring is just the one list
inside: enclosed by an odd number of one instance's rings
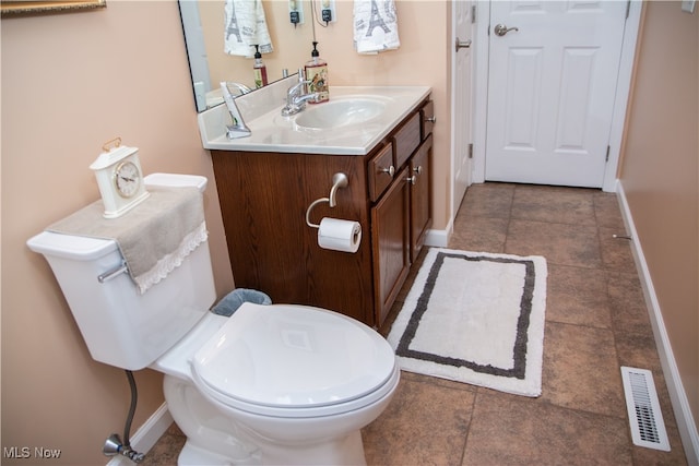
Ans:
{"label": "wall mirror above the sink reflecting towel and soap bottle", "polygon": [[[224,51],[227,1],[233,0],[179,0],[194,103],[199,112],[223,101],[220,88],[222,81],[254,89],[254,59]],[[289,1],[262,1],[273,47],[273,51],[262,53],[271,83],[283,77],[283,70],[294,74],[310,59],[313,40],[311,0],[293,0],[300,13],[300,23],[296,25],[291,22]],[[253,0],[250,3],[254,4]]]}

